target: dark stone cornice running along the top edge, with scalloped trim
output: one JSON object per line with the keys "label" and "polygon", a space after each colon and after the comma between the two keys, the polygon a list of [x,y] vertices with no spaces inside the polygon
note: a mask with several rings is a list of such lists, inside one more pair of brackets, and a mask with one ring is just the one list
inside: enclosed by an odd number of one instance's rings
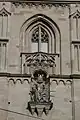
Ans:
{"label": "dark stone cornice running along the top edge, with scalloped trim", "polygon": [[[0,2],[3,2],[3,0],[0,0]],[[22,8],[25,8],[28,6],[29,8],[32,8],[35,6],[38,8],[41,6],[42,8],[45,8],[46,6],[49,8],[54,7],[69,7],[70,4],[80,4],[80,1],[56,1],[56,0],[44,0],[44,1],[27,1],[27,0],[5,0],[5,2],[11,2],[16,8],[21,6]]]}

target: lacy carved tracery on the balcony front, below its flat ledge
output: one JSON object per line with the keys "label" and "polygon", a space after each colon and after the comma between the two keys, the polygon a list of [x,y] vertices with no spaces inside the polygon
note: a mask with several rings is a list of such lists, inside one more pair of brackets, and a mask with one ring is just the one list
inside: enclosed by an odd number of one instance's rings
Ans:
{"label": "lacy carved tracery on the balcony front, below its flat ledge", "polygon": [[43,52],[26,55],[27,66],[34,69],[46,70],[49,67],[55,66],[55,55]]}

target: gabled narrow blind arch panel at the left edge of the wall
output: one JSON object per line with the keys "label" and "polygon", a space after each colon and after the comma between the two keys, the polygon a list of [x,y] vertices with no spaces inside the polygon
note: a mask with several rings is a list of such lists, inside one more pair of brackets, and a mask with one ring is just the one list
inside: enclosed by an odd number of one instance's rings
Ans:
{"label": "gabled narrow blind arch panel at the left edge of the wall", "polygon": [[4,72],[7,70],[9,16],[11,16],[11,13],[3,7],[0,10],[0,72]]}

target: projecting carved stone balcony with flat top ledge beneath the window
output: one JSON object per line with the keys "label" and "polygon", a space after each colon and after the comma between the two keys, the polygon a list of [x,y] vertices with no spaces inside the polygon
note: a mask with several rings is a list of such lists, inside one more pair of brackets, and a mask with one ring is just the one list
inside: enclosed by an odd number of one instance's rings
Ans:
{"label": "projecting carved stone balcony with flat top ledge beneath the window", "polygon": [[[35,70],[39,70],[39,69],[48,72],[48,69],[56,67],[55,64],[56,56],[59,57],[59,54],[50,54],[44,52],[21,53],[21,61],[22,61],[21,66],[26,65],[26,68],[29,67],[31,70],[31,74]],[[23,57],[24,60],[22,60]]]}

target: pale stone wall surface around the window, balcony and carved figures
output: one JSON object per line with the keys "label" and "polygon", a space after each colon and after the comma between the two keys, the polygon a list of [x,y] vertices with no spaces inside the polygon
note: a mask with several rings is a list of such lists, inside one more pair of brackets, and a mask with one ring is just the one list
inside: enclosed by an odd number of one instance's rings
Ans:
{"label": "pale stone wall surface around the window, balcony and carved figures", "polygon": [[[80,17],[80,4],[70,3],[64,7],[61,4],[50,6],[49,3],[42,4],[42,2],[40,4],[36,2],[28,4],[28,1],[26,4],[0,2],[0,14],[8,16],[7,36],[0,36],[0,43],[6,43],[6,50],[3,47],[0,49],[0,62],[2,61],[0,63],[0,120],[79,120],[80,19],[77,21],[77,17]],[[51,32],[53,39],[52,44],[49,41],[49,48],[52,47],[54,54],[54,36],[50,30],[53,26],[56,35],[56,54],[59,54],[55,57],[56,67],[53,70],[48,69],[48,76],[53,76],[50,78],[50,99],[53,108],[47,116],[43,113],[41,118],[38,118],[36,113],[31,115],[27,109],[27,103],[30,101],[29,74],[32,71],[26,68],[27,72],[24,74],[25,56],[23,55],[22,63],[20,57],[22,52],[31,52],[31,29],[34,26],[32,21],[36,21],[35,26],[41,24]],[[45,25],[46,21],[50,27]],[[78,47],[74,49],[75,46]],[[69,75],[72,74],[75,75],[70,78]]]}

